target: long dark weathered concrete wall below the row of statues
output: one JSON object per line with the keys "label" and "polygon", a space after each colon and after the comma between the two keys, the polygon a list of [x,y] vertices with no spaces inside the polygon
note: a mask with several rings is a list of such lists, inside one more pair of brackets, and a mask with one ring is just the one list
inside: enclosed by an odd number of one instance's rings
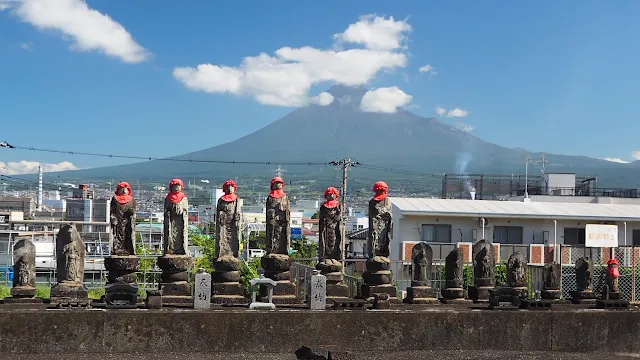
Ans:
{"label": "long dark weathered concrete wall below the row of statues", "polygon": [[2,354],[512,350],[640,353],[638,311],[8,311]]}

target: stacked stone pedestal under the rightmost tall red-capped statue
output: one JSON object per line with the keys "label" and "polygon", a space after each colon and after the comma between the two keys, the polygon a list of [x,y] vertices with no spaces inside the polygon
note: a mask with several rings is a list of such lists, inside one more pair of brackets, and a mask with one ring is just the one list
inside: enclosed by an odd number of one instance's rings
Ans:
{"label": "stacked stone pedestal under the rightmost tall red-capped statue", "polygon": [[375,256],[366,262],[366,271],[362,274],[364,284],[360,292],[364,299],[373,301],[373,294],[388,294],[389,302],[400,303],[396,295],[396,287],[391,284],[391,261],[383,256]]}

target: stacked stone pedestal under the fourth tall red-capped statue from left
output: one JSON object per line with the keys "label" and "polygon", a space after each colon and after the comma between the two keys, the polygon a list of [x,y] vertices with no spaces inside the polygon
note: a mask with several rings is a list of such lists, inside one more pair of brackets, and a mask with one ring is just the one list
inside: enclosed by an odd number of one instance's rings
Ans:
{"label": "stacked stone pedestal under the fourth tall red-capped statue from left", "polygon": [[[291,282],[291,274],[289,270],[293,264],[293,259],[289,255],[269,254],[260,259],[260,264],[264,269],[264,276],[276,282],[273,288],[273,303],[281,304],[299,304],[300,300],[296,297],[296,285]],[[267,288],[260,287],[261,301],[267,301]]]}

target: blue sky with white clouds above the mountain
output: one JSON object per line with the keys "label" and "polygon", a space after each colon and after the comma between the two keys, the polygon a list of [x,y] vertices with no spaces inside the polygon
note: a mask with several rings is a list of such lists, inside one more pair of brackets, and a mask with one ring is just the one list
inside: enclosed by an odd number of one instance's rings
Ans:
{"label": "blue sky with white clouds above the mountain", "polygon": [[[0,9],[0,141],[14,145],[177,155],[246,135],[335,83],[361,82],[391,88],[376,99],[392,109],[506,147],[624,161],[640,150],[637,1],[0,0]],[[345,56],[327,75],[312,59],[292,76],[256,80],[270,57],[254,58],[253,70],[196,70],[286,47],[306,60],[364,49],[387,66]],[[317,51],[295,50],[304,47]],[[5,168],[21,160],[126,162],[0,149]]]}

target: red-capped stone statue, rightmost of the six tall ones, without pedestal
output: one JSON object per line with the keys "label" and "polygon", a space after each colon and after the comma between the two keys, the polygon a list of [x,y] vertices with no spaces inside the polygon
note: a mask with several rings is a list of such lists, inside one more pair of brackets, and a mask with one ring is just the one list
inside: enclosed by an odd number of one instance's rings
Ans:
{"label": "red-capped stone statue, rightmost of the six tall ones, without pedestal", "polygon": [[375,195],[369,201],[369,231],[367,251],[369,258],[374,256],[389,257],[392,237],[391,200],[388,198],[389,187],[384,181],[373,185]]}

